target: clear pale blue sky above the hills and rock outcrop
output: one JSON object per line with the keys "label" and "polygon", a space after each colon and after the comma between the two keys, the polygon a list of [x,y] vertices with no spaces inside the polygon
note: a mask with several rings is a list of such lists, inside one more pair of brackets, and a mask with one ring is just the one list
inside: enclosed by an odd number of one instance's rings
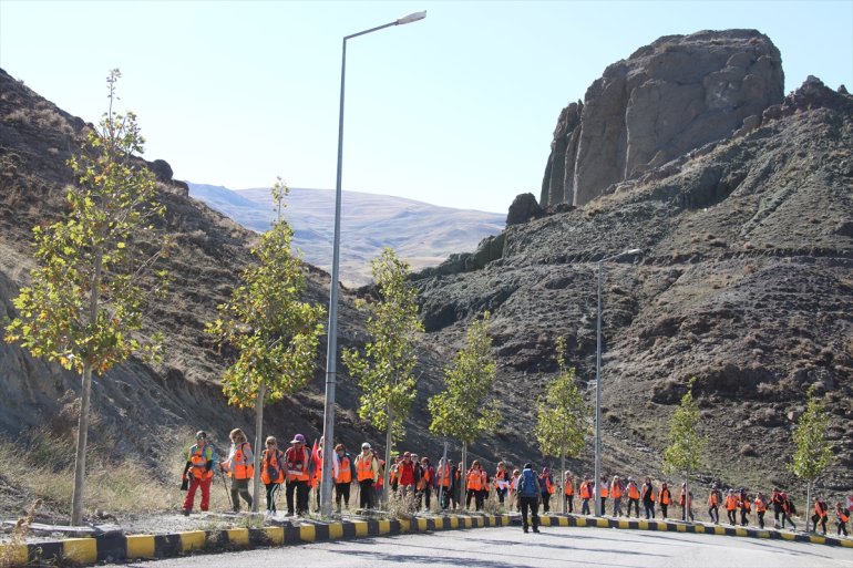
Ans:
{"label": "clear pale blue sky above the hills and rock outcrop", "polygon": [[756,28],[787,91],[809,74],[853,87],[851,0],[0,0],[0,66],[91,122],[120,68],[145,156],[178,179],[330,188],[341,38],[419,10],[348,43],[345,189],[501,213],[538,198],[559,111],[661,35]]}

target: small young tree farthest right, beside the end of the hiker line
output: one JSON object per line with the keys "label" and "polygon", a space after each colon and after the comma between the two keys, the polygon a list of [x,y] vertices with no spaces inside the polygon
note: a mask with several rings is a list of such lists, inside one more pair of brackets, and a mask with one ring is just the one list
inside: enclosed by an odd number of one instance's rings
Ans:
{"label": "small young tree farthest right, beside the end of the hiker line", "polygon": [[830,426],[830,415],[823,403],[815,396],[814,390],[809,390],[809,403],[805,412],[797,421],[793,440],[794,451],[790,471],[800,479],[805,481],[805,507],[809,510],[812,503],[812,484],[832,463],[832,450],[826,440],[826,428]]}

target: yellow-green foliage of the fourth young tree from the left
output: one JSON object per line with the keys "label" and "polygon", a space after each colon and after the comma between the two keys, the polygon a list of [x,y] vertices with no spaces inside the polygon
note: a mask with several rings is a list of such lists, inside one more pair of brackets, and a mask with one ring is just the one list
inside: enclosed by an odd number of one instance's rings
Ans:
{"label": "yellow-green foliage of the fourth young tree from the left", "polygon": [[474,319],[465,345],[444,369],[444,391],[429,401],[430,432],[473,443],[481,434],[494,431],[501,417],[496,401],[486,404],[495,379],[492,338],[487,334],[489,312]]}

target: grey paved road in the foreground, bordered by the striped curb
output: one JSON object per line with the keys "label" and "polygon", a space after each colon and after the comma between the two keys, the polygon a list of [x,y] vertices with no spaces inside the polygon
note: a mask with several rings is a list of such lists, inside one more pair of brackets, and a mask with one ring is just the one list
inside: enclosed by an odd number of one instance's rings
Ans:
{"label": "grey paved road in the foreground, bordered by the striped curb", "polygon": [[607,528],[479,528],[337,540],[218,556],[146,561],[140,568],[853,568],[853,549],[757,538]]}

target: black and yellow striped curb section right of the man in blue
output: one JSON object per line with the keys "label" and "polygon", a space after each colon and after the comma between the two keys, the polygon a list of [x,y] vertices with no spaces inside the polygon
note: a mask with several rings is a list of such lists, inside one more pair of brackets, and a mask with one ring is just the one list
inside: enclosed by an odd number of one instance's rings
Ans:
{"label": "black and yellow striped curb section right of the man in blue", "polygon": [[814,545],[843,546],[853,548],[853,539],[832,536],[806,535],[802,533],[784,533],[780,530],[761,529],[758,527],[723,527],[720,525],[671,523],[667,520],[598,518],[577,515],[541,515],[539,520],[545,527],[599,527],[629,528],[637,530],[660,530],[669,533],[696,533],[706,535],[727,535],[752,538],[770,538],[778,540],[794,540]]}

